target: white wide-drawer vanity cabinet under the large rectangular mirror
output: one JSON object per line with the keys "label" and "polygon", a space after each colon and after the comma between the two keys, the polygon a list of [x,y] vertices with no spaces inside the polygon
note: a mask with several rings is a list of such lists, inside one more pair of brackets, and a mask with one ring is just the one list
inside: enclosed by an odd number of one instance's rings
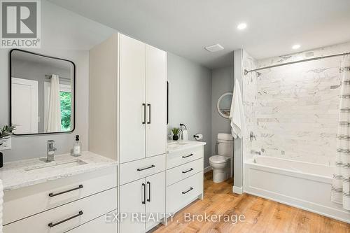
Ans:
{"label": "white wide-drawer vanity cabinet under the large rectangular mirror", "polygon": [[[116,170],[106,167],[4,192],[3,232],[66,232],[115,211]],[[117,224],[106,229],[116,232]]]}

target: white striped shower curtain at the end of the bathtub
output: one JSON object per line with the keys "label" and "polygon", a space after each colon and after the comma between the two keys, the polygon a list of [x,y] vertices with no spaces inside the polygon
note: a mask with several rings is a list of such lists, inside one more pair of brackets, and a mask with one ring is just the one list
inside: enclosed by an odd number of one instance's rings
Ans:
{"label": "white striped shower curtain at the end of the bathtub", "polygon": [[337,155],[332,182],[332,202],[350,210],[350,57],[340,66],[340,106],[337,132]]}

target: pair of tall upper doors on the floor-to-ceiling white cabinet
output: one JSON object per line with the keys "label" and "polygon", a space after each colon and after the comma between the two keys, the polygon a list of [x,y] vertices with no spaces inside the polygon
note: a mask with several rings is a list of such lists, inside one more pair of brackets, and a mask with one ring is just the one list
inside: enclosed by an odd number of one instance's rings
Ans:
{"label": "pair of tall upper doors on the floor-to-ceiling white cabinet", "polygon": [[167,52],[120,34],[119,161],[167,151]]}

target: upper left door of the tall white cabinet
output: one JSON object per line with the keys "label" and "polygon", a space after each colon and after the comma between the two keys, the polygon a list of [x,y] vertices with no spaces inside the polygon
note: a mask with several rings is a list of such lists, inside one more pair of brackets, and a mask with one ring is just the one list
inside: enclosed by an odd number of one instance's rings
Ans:
{"label": "upper left door of the tall white cabinet", "polygon": [[[120,162],[145,157],[146,44],[120,35]],[[103,104],[103,103],[101,103]]]}

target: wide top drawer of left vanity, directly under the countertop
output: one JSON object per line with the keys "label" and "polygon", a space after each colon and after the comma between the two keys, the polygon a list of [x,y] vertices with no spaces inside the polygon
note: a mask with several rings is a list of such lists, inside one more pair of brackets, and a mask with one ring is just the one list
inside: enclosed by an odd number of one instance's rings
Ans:
{"label": "wide top drawer of left vanity, directly under the countertop", "polygon": [[6,191],[3,195],[3,224],[114,188],[117,186],[116,171],[117,167],[110,167]]}

